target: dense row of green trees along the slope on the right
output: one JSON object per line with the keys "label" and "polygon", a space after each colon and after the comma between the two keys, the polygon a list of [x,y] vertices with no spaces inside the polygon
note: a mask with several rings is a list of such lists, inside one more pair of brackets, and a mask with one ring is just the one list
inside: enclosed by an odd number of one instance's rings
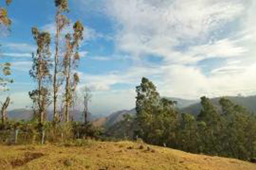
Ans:
{"label": "dense row of green trees along the slope on the right", "polygon": [[146,143],[192,153],[251,160],[256,156],[256,116],[228,98],[217,109],[201,97],[197,116],[180,113],[176,102],[161,98],[147,78],[136,87],[137,123],[134,135]]}

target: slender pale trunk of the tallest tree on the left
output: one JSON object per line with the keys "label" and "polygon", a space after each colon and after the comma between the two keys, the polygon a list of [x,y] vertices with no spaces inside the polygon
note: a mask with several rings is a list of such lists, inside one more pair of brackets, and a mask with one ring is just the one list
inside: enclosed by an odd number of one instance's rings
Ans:
{"label": "slender pale trunk of the tallest tree on the left", "polygon": [[59,39],[60,39],[60,10],[58,9],[56,14],[56,37],[55,37],[55,57],[54,57],[54,80],[53,80],[53,120],[56,121],[58,117],[57,113],[57,98],[58,98],[58,60],[59,60]]}

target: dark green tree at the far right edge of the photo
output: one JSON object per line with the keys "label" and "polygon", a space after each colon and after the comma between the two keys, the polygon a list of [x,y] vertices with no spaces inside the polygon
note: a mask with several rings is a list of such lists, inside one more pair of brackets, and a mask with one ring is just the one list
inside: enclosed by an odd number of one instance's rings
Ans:
{"label": "dark green tree at the far right edge of the photo", "polygon": [[222,152],[224,156],[249,160],[256,154],[256,120],[244,107],[221,98],[220,106],[225,120],[222,133]]}

